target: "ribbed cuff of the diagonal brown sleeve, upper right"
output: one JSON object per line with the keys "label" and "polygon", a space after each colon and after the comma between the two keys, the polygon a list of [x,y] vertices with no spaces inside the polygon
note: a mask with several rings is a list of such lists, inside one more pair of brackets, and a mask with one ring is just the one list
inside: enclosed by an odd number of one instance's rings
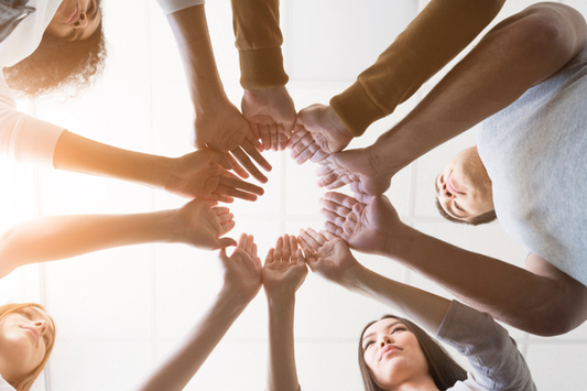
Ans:
{"label": "ribbed cuff of the diagonal brown sleeve, upper right", "polygon": [[333,97],[330,107],[354,137],[361,135],[371,123],[387,116],[373,104],[359,82]]}

